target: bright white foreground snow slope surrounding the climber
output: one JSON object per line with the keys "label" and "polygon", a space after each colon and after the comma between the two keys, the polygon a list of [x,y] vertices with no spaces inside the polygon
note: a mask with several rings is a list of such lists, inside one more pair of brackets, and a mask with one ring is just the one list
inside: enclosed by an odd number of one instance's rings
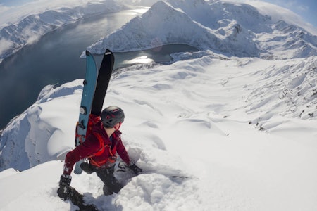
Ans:
{"label": "bright white foreground snow slope surrounding the climber", "polygon": [[[101,210],[316,210],[317,57],[174,57],[187,60],[135,65],[111,79],[104,107],[125,110],[123,141],[147,174],[117,172],[126,186],[113,196],[103,196],[95,174],[73,174],[87,202]],[[81,79],[46,87],[4,130],[0,210],[76,209],[56,197],[63,163],[54,157],[73,146],[81,91]],[[8,158],[24,150],[28,162]]]}

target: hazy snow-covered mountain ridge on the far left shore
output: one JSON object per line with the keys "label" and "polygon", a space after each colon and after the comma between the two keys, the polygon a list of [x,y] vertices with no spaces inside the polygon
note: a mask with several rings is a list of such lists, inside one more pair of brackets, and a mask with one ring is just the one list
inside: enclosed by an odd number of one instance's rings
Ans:
{"label": "hazy snow-covered mountain ridge on the far left shore", "polygon": [[91,15],[111,13],[127,8],[115,0],[104,0],[75,7],[61,7],[23,17],[17,23],[0,27],[0,63],[23,46],[32,44],[58,27]]}

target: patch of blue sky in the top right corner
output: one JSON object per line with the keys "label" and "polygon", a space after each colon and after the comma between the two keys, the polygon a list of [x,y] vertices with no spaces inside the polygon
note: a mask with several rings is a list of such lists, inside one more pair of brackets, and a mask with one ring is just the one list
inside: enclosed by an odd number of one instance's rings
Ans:
{"label": "patch of blue sky in the top right corner", "polygon": [[311,23],[317,29],[317,1],[316,0],[262,0],[276,4],[297,13],[304,20]]}

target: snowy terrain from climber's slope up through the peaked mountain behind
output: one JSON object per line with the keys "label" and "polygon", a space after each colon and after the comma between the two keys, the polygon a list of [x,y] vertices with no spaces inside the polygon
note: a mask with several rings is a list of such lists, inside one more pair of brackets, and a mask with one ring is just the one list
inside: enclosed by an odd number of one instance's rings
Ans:
{"label": "snowy terrain from climber's slope up through the peaked mountain behind", "polygon": [[[146,173],[116,172],[125,187],[111,196],[95,174],[72,186],[101,210],[316,210],[317,37],[273,19],[247,4],[159,1],[89,46],[199,51],[113,74],[104,107],[125,110],[123,142]],[[1,132],[0,210],[77,209],[57,196],[57,158],[73,148],[81,94],[82,79],[48,85]]]}

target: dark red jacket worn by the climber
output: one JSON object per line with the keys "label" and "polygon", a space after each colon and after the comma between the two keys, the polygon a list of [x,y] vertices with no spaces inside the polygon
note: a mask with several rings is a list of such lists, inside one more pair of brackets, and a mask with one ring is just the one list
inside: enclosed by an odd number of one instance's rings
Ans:
{"label": "dark red jacket worn by the climber", "polygon": [[[116,156],[116,153],[118,153],[118,155],[120,155],[120,158],[122,158],[122,160],[129,165],[130,158],[127,151],[125,150],[125,146],[123,146],[120,134],[120,131],[113,132],[113,134],[111,135],[111,139],[109,139],[102,123],[97,123],[92,128],[92,133],[87,136],[86,140],[75,149],[73,149],[73,151],[67,153],[63,174],[69,175],[72,172],[75,163],[84,158],[92,159],[94,162],[97,163],[104,163],[111,159],[111,157]],[[95,155],[102,148],[97,136],[99,136],[99,139],[103,139],[104,141],[105,148],[101,155]],[[93,162],[90,163],[94,165]]]}

